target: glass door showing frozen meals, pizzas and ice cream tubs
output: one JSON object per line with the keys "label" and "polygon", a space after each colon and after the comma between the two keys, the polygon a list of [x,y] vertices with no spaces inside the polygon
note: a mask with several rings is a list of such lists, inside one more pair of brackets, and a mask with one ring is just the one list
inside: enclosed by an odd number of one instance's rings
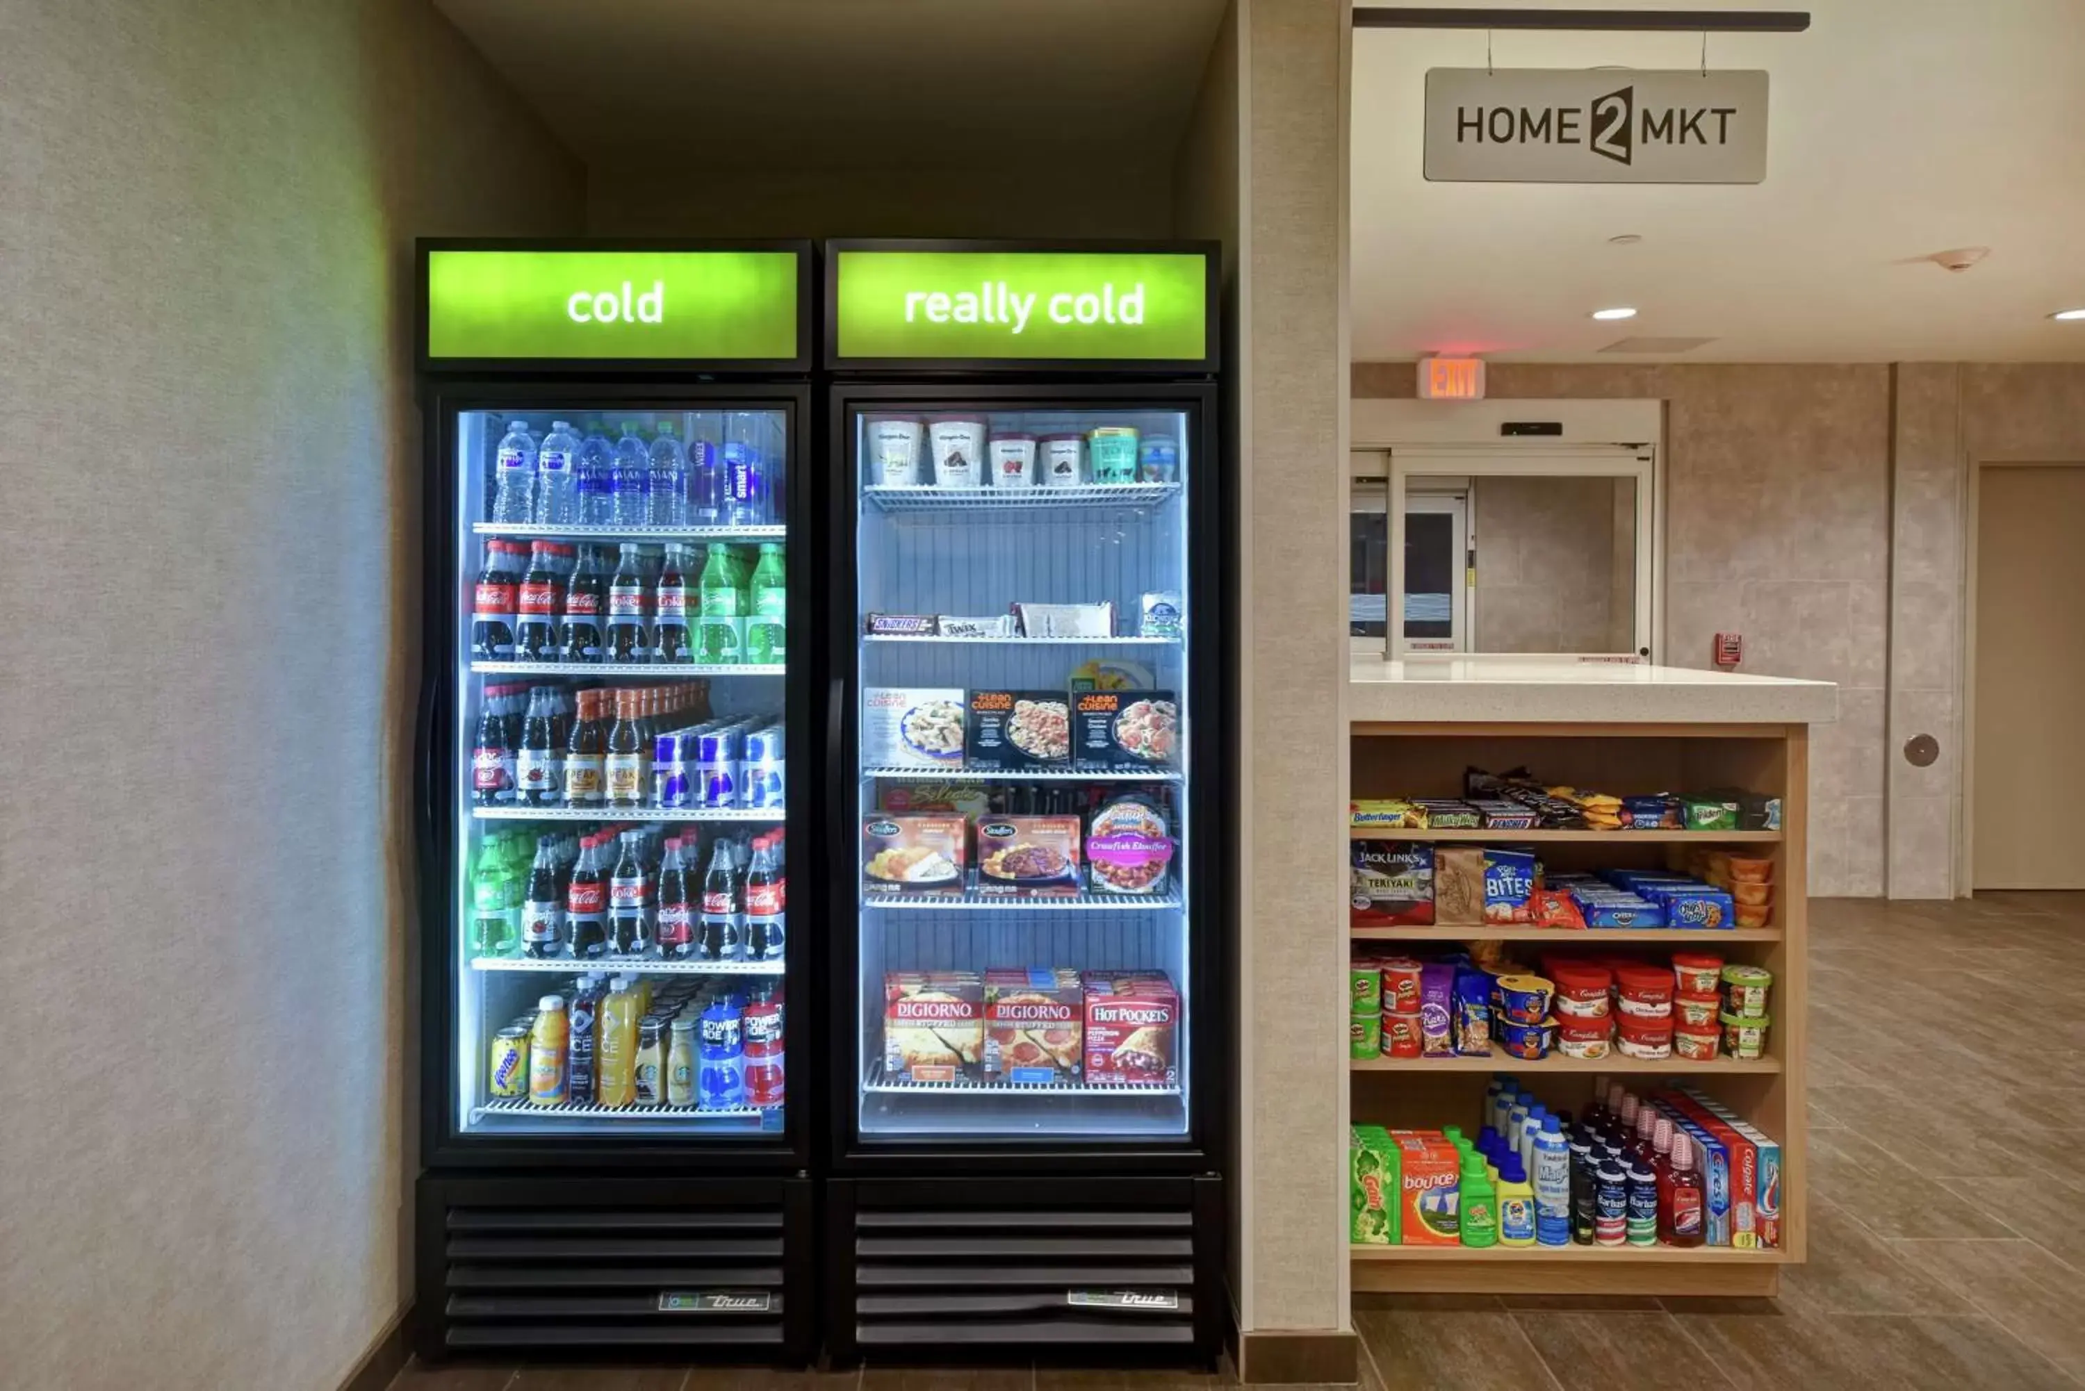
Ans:
{"label": "glass door showing frozen meals, pizzas and ice cream tubs", "polygon": [[857,526],[859,1132],[1188,1132],[1178,409],[847,419]]}

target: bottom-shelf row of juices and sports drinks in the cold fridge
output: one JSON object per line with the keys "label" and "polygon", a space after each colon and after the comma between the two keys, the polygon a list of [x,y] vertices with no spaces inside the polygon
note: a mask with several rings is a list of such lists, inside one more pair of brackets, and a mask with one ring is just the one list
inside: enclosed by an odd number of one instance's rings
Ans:
{"label": "bottom-shelf row of juices and sports drinks in the cold fridge", "polygon": [[782,995],[578,976],[492,1034],[486,1093],[532,1105],[696,1112],[782,1105]]}

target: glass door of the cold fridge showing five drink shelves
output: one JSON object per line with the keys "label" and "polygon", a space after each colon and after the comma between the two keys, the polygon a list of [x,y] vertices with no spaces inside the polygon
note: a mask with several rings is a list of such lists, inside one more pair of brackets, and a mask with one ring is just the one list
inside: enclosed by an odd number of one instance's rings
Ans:
{"label": "glass door of the cold fridge showing five drink shelves", "polygon": [[784,1128],[786,428],[452,417],[463,1134]]}

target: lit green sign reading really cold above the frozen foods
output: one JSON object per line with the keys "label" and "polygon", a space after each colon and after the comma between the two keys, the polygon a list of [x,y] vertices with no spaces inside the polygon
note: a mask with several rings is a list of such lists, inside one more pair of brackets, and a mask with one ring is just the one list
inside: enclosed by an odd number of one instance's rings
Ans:
{"label": "lit green sign reading really cold above the frozen foods", "polygon": [[1195,252],[840,250],[840,359],[1197,361]]}

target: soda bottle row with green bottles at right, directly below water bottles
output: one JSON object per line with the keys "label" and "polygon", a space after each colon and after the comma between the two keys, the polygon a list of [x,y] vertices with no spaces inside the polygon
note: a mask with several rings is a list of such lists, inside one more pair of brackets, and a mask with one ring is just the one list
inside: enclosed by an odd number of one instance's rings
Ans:
{"label": "soda bottle row with green bottles at right, directly below water bottles", "polygon": [[788,563],[740,546],[488,540],[471,588],[480,661],[778,665],[788,657]]}

